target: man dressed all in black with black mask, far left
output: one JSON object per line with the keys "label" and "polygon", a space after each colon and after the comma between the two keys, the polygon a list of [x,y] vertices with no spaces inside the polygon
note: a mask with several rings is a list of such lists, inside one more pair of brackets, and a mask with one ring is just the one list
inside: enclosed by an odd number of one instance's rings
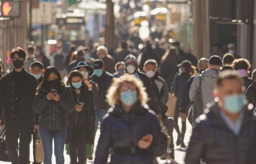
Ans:
{"label": "man dressed all in black with black mask, far left", "polygon": [[5,142],[12,164],[29,163],[30,142],[35,124],[32,105],[37,81],[24,68],[24,49],[12,49],[10,57],[14,68],[0,79],[0,112],[4,113],[1,118],[5,118]]}

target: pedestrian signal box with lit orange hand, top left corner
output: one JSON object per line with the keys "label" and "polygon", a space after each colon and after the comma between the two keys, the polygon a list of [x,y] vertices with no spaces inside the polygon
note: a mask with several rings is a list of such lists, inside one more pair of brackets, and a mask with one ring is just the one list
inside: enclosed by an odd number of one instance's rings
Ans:
{"label": "pedestrian signal box with lit orange hand, top left corner", "polygon": [[20,1],[1,1],[1,16],[10,18],[20,17]]}

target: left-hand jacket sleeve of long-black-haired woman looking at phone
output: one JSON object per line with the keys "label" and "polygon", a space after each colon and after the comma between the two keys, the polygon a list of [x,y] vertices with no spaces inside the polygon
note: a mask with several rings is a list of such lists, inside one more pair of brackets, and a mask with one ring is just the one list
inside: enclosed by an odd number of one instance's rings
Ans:
{"label": "left-hand jacket sleeve of long-black-haired woman looking at phone", "polygon": [[50,103],[50,101],[47,101],[45,95],[43,95],[42,93],[38,93],[37,95],[35,95],[34,98],[33,110],[36,114],[41,114]]}

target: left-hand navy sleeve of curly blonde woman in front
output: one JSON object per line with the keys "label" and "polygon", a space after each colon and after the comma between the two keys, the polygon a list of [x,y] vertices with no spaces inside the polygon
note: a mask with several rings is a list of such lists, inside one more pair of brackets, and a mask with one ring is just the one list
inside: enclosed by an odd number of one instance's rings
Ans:
{"label": "left-hand navy sleeve of curly blonde woman in front", "polygon": [[109,151],[112,145],[111,141],[111,123],[106,117],[100,127],[100,136],[98,146],[95,153],[94,164],[105,164],[108,161]]}

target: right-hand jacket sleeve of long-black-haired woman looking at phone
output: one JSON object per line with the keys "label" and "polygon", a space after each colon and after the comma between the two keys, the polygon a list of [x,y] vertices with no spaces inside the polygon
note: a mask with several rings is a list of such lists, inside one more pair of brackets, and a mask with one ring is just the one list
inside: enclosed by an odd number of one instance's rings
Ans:
{"label": "right-hand jacket sleeve of long-black-haired woman looking at phone", "polygon": [[75,108],[74,98],[70,88],[65,88],[65,94],[60,95],[60,100],[57,104],[61,107],[65,114],[70,114]]}

